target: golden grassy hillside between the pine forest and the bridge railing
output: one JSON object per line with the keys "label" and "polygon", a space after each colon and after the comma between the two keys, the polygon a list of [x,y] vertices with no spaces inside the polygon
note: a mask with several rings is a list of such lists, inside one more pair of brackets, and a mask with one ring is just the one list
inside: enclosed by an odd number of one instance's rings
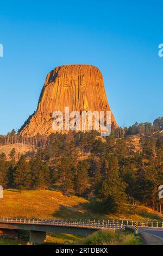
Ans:
{"label": "golden grassy hillside between the pine forest and the bridge railing", "polygon": [[[110,218],[117,215],[105,215],[99,207],[89,200],[64,196],[59,191],[22,191],[5,190],[0,199],[0,217],[35,217],[35,218]],[[154,220],[160,218],[158,212],[145,206],[124,205],[120,218],[130,220]]]}

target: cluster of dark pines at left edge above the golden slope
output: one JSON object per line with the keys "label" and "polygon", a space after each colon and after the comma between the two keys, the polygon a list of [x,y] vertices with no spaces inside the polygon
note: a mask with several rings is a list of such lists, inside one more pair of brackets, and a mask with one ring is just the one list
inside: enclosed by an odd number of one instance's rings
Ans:
{"label": "cluster of dark pines at left edge above the golden slope", "polygon": [[20,160],[15,161],[15,149],[9,156],[10,161],[4,153],[0,154],[0,184],[4,188],[16,188],[18,190],[48,189],[52,185],[52,169],[39,155],[30,161],[22,155]]}

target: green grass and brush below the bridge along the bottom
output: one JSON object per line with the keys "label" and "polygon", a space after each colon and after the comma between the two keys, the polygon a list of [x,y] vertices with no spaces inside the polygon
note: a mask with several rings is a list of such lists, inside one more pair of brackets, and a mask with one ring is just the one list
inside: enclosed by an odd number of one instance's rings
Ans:
{"label": "green grass and brush below the bridge along the bottom", "polygon": [[[29,240],[29,237],[28,237]],[[27,245],[25,238],[15,239],[7,235],[0,236],[0,245]],[[47,234],[49,245],[143,245],[141,237],[134,236],[131,231],[101,230],[87,237],[72,234]]]}

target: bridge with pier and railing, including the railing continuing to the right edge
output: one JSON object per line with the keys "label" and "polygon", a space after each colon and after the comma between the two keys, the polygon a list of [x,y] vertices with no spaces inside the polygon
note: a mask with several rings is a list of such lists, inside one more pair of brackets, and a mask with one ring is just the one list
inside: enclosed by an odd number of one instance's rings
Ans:
{"label": "bridge with pier and railing, including the railing continuing to the right edge", "polygon": [[[29,241],[43,243],[46,240],[46,232],[68,233],[87,236],[99,229],[123,230],[134,226],[134,220],[48,220],[27,218],[0,218],[0,229],[21,229],[30,231]],[[139,230],[161,237],[163,240],[162,221],[136,221]]]}

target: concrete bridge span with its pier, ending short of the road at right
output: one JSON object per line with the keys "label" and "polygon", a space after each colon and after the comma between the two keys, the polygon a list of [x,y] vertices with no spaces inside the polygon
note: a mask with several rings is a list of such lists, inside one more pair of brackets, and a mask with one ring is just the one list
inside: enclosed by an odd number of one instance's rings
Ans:
{"label": "concrete bridge span with its pier, ending short of the road at right", "polygon": [[0,218],[0,229],[21,229],[30,231],[29,241],[32,243],[43,243],[46,240],[46,232],[68,233],[87,236],[99,229],[124,229],[121,224],[113,224],[106,221],[95,220],[45,220],[26,218]]}

